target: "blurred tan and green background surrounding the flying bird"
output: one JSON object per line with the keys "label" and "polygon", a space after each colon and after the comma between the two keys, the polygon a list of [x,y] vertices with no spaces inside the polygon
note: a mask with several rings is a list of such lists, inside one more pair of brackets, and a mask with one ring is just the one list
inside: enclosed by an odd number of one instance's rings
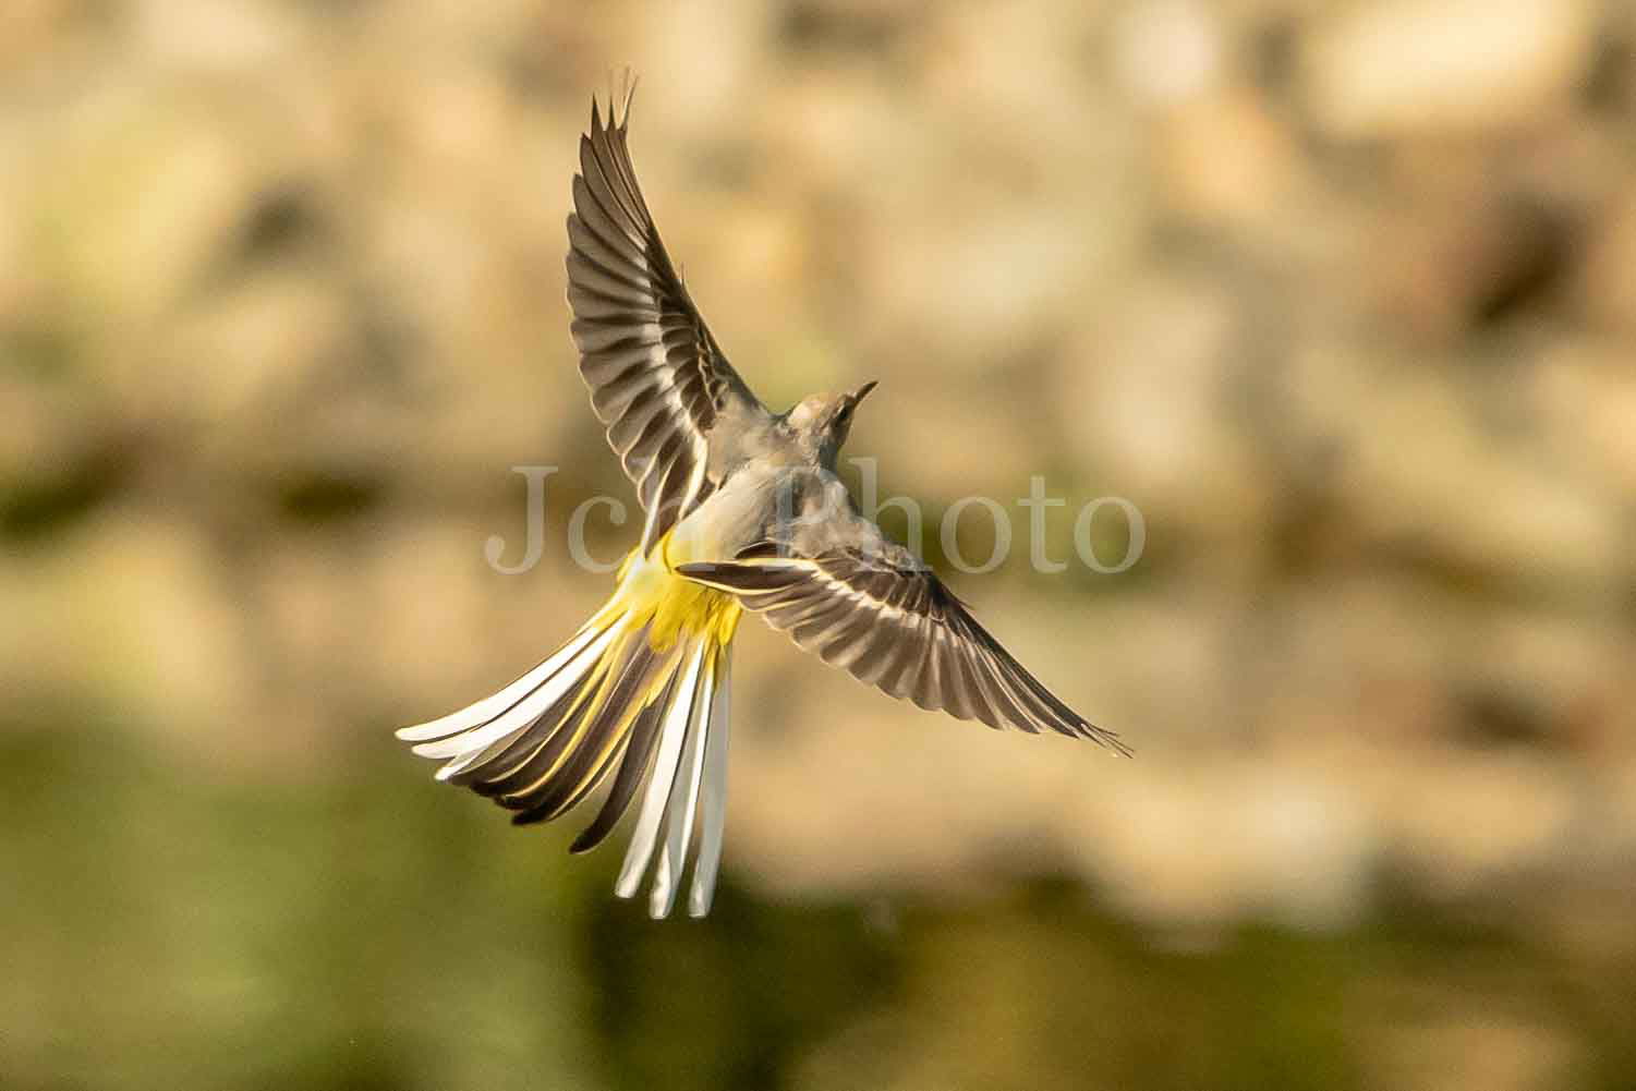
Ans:
{"label": "blurred tan and green background surrounding the flying bird", "polygon": [[[7,0],[0,1083],[1636,1086],[1633,46],[1621,0]],[[627,64],[735,363],[880,378],[887,494],[1011,504],[952,586],[1135,761],[751,620],[717,911],[654,924],[391,738],[609,590],[563,219]],[[561,471],[504,576],[515,465]],[[1036,572],[1031,474],[1050,558],[1122,496],[1140,563]]]}

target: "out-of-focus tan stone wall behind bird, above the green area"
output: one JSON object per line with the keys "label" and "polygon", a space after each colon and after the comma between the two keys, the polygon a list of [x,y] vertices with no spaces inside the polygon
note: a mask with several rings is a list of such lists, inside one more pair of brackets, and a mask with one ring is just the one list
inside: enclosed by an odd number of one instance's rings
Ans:
{"label": "out-of-focus tan stone wall behind bird, above the green area", "polygon": [[11,730],[93,707],[200,779],[345,777],[594,608],[560,535],[525,576],[484,541],[520,550],[514,465],[563,466],[558,532],[628,496],[561,257],[589,98],[630,64],[649,204],[769,402],[879,378],[852,451],[890,492],[993,496],[1021,532],[1045,474],[1054,558],[1098,496],[1147,528],[1121,576],[1037,574],[1021,537],[954,576],[1132,762],[748,625],[739,880],[1067,872],[1181,929],[1348,924],[1382,877],[1628,880],[1626,5],[8,0],[0,26]]}

